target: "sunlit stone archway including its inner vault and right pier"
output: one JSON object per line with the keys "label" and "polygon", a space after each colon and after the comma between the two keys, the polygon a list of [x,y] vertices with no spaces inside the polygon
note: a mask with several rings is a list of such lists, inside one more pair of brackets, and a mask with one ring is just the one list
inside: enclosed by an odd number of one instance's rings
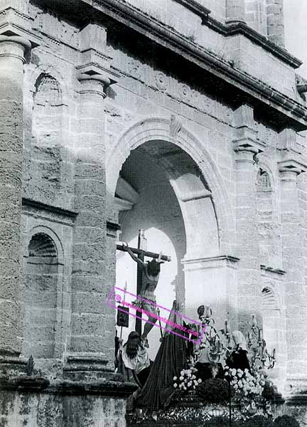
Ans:
{"label": "sunlit stone archway including its inner vault and right pier", "polygon": [[[217,317],[235,316],[237,280],[234,250],[234,221],[232,210],[220,174],[210,155],[190,132],[181,127],[171,135],[171,122],[150,118],[136,123],[119,138],[107,156],[107,193],[110,211],[118,209],[114,195],[119,189],[122,165],[135,151],[141,151],[163,169],[178,209],[183,217],[186,252],[183,258],[185,273],[185,313],[197,317],[200,303],[212,305]],[[122,184],[121,184],[122,185]],[[134,204],[133,191],[130,191]],[[122,198],[121,198],[122,199]],[[121,209],[124,207],[120,201]],[[188,290],[188,292],[187,292]]]}

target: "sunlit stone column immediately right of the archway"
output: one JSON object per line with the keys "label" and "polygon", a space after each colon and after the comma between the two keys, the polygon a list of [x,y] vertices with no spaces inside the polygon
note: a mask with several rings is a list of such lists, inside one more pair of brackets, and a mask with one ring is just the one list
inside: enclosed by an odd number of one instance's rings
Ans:
{"label": "sunlit stone column immediately right of the archway", "polygon": [[261,270],[257,233],[257,204],[255,156],[263,151],[263,144],[254,130],[254,113],[249,105],[242,105],[234,113],[236,152],[236,222],[238,268],[239,329],[246,330],[255,314],[259,325],[261,305]]}

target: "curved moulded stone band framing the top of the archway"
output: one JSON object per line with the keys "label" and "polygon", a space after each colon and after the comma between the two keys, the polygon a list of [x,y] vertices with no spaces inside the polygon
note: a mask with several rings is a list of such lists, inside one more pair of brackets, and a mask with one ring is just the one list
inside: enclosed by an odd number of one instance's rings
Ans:
{"label": "curved moulded stone band framing the top of the archway", "polygon": [[120,135],[113,147],[109,147],[106,162],[109,208],[112,206],[119,171],[131,150],[148,141],[171,142],[193,159],[208,184],[217,218],[220,255],[235,253],[235,216],[215,162],[199,139],[185,127],[181,127],[176,137],[171,135],[170,127],[171,120],[161,117],[144,118]]}

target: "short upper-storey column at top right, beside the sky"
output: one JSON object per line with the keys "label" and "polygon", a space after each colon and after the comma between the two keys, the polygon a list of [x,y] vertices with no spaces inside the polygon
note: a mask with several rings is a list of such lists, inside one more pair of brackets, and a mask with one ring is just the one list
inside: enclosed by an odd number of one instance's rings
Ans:
{"label": "short upper-storey column at top right, beside the sky", "polygon": [[266,23],[269,41],[284,47],[284,0],[267,0]]}

